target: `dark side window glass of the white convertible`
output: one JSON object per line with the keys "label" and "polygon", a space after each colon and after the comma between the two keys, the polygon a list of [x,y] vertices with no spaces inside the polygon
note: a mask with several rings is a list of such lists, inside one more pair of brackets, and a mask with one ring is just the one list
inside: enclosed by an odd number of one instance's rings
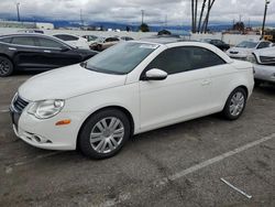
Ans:
{"label": "dark side window glass of the white convertible", "polygon": [[168,48],[153,59],[147,69],[158,68],[167,74],[176,74],[193,69],[200,69],[226,62],[211,51],[196,46]]}

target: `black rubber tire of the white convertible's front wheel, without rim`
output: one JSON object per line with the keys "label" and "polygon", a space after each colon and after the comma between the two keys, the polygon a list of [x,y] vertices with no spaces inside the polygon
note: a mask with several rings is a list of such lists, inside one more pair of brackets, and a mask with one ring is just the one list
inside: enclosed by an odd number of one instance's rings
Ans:
{"label": "black rubber tire of the white convertible's front wheel, without rim", "polygon": [[[121,122],[123,123],[124,127],[124,137],[122,139],[122,142],[120,143],[120,145],[113,150],[110,153],[98,153],[97,151],[95,151],[91,145],[90,145],[90,132],[92,130],[92,128],[95,127],[95,124],[100,121],[103,118],[107,117],[116,117],[118,119],[121,120]],[[131,134],[131,129],[130,129],[130,121],[128,119],[128,117],[124,115],[124,112],[117,110],[117,109],[106,109],[99,112],[96,112],[95,115],[92,115],[91,117],[89,117],[86,122],[84,123],[80,133],[78,135],[78,148],[80,149],[80,151],[88,157],[91,159],[108,159],[111,157],[113,155],[116,155],[121,149],[122,146],[125,144],[125,142],[128,141],[128,139],[130,138]]]}

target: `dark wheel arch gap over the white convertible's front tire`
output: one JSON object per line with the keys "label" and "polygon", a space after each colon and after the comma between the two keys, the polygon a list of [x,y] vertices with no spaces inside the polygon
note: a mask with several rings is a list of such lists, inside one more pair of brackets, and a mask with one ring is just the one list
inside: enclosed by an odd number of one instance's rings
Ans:
{"label": "dark wheel arch gap over the white convertible's front tire", "polygon": [[78,140],[79,140],[79,133],[80,131],[82,130],[82,127],[85,126],[85,123],[89,120],[90,117],[92,117],[94,115],[102,111],[102,110],[107,110],[107,109],[117,109],[117,110],[120,110],[122,111],[127,118],[129,119],[130,121],[130,127],[131,127],[131,135],[134,134],[134,129],[135,129],[135,123],[134,123],[134,119],[133,119],[133,116],[132,113],[124,107],[121,107],[121,106],[107,106],[107,107],[102,107],[102,108],[99,108],[97,109],[96,111],[91,112],[86,119],[85,121],[81,123],[79,130],[78,130],[78,133],[77,133],[77,142],[76,142],[76,148],[78,148]]}

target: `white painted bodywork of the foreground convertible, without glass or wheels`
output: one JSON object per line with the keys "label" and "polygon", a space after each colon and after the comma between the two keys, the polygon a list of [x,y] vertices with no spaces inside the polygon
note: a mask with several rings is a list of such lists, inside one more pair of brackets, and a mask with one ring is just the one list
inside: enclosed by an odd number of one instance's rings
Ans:
{"label": "white painted bodywork of the foreground convertible, without glass or wheels", "polygon": [[[168,75],[165,80],[140,80],[142,72],[152,59],[167,47],[175,46],[208,48],[222,57],[226,64]],[[251,95],[254,80],[250,63],[232,61],[210,44],[160,44],[128,75],[96,73],[73,65],[31,78],[20,87],[20,97],[31,102],[65,99],[65,107],[55,117],[40,120],[26,112],[28,106],[19,119],[16,133],[37,148],[74,150],[85,120],[102,108],[120,107],[127,110],[133,119],[133,133],[138,134],[219,112],[230,92],[239,86],[248,88],[249,96]],[[63,119],[70,119],[72,123],[56,127],[55,123]],[[25,138],[25,132],[47,138],[53,143],[31,141]]]}

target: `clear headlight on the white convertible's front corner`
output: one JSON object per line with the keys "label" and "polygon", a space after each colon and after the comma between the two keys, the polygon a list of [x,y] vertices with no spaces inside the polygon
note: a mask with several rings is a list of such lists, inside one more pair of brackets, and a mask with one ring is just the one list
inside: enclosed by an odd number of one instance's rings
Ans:
{"label": "clear headlight on the white convertible's front corner", "polygon": [[48,119],[56,116],[64,107],[64,100],[41,100],[32,102],[28,112],[37,119]]}

